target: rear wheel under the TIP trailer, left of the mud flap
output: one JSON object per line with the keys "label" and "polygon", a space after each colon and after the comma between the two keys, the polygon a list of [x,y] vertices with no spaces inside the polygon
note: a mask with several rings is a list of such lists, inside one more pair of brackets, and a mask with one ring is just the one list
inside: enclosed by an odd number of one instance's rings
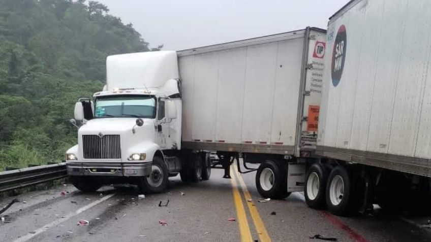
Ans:
{"label": "rear wheel under the TIP trailer, left of the mud flap", "polygon": [[256,188],[264,198],[286,198],[290,195],[287,192],[287,169],[274,161],[264,161],[256,172]]}

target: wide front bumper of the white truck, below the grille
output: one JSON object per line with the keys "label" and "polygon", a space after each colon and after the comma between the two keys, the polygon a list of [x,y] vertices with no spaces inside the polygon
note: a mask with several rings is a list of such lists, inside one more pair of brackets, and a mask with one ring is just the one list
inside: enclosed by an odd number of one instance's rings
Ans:
{"label": "wide front bumper of the white truck, below the grille", "polygon": [[67,163],[69,176],[146,177],[151,163]]}

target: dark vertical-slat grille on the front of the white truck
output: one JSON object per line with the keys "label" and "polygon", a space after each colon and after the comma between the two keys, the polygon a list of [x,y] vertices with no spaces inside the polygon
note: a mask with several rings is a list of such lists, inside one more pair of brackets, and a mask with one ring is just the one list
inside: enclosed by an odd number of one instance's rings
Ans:
{"label": "dark vertical-slat grille on the front of the white truck", "polygon": [[84,159],[121,159],[120,135],[82,135]]}

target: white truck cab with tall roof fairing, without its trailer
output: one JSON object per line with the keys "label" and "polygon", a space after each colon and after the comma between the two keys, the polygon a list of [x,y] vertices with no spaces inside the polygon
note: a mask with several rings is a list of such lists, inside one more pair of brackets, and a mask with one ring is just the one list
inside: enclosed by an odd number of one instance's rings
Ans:
{"label": "white truck cab with tall roof fairing, without its trailer", "polygon": [[179,161],[169,165],[164,155],[181,146],[177,66],[175,51],[107,58],[106,86],[75,105],[78,144],[67,151],[66,162],[79,190],[127,182],[161,192],[169,174],[179,172]]}

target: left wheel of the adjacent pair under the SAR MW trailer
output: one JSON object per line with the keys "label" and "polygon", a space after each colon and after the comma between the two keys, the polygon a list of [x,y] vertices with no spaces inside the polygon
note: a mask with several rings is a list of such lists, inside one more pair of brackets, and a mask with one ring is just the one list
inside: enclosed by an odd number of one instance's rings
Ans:
{"label": "left wheel of the adjacent pair under the SAR MW trailer", "polygon": [[326,182],[328,169],[321,163],[312,164],[305,177],[304,196],[310,208],[324,209],[326,206]]}

